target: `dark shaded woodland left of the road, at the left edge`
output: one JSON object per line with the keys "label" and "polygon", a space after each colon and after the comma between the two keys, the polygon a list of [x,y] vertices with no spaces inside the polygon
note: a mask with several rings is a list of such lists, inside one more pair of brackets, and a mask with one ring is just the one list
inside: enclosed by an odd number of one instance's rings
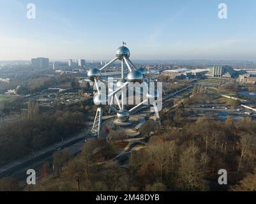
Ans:
{"label": "dark shaded woodland left of the road, at the left edge", "polygon": [[57,110],[0,127],[0,164],[80,133],[85,118],[83,112]]}

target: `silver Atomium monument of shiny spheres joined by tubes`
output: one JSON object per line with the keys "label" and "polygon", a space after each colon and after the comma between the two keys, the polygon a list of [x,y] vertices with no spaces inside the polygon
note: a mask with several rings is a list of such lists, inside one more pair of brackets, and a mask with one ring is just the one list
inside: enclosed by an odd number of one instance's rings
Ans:
{"label": "silver Atomium monument of shiny spheres joined by tubes", "polygon": [[[100,92],[98,83],[99,82],[103,82],[104,84],[107,84],[107,83],[104,82],[104,80],[102,79],[101,72],[103,71],[103,69],[107,68],[108,66],[110,66],[112,63],[114,63],[117,60],[121,61],[121,78],[119,78],[119,80],[117,80],[117,82],[115,84],[117,89],[109,90],[110,94],[108,94],[108,95],[103,94]],[[129,70],[129,73],[127,76],[124,76],[124,65],[126,65]],[[127,122],[130,119],[130,113],[132,113],[135,109],[142,106],[150,98],[158,98],[157,92],[154,92],[154,94],[153,94],[154,96],[152,96],[151,94],[149,94],[148,87],[143,84],[143,87],[146,90],[147,99],[145,99],[138,105],[135,105],[130,110],[126,110],[124,107],[124,89],[126,89],[126,87],[128,87],[129,82],[132,82],[132,83],[139,82],[140,84],[143,83],[146,73],[147,72],[146,72],[145,68],[138,68],[138,69],[135,68],[133,62],[130,61],[130,50],[127,47],[125,47],[124,45],[117,49],[116,57],[114,59],[112,59],[112,61],[105,64],[105,66],[103,66],[100,69],[96,69],[96,68],[89,69],[89,71],[87,72],[87,77],[89,78],[89,80],[94,82],[94,84],[96,85],[96,89],[97,89],[97,94],[94,96],[93,101],[94,101],[94,104],[96,106],[98,106],[98,109],[97,109],[96,116],[94,119],[93,128],[91,130],[91,132],[93,133],[94,136],[99,136],[99,134],[100,134],[100,131],[102,129],[102,113],[103,113],[102,108],[103,108],[103,106],[107,105],[107,102],[109,101],[109,99],[110,99],[110,104],[107,106],[109,106],[110,110],[112,110],[113,112],[116,113],[117,119],[119,120],[119,122]],[[121,103],[119,102],[117,94],[119,94],[119,95],[121,94]],[[113,106],[114,99],[116,99],[116,101],[117,101],[119,110],[117,110]],[[154,103],[153,106],[154,106],[154,112],[156,113],[156,117],[158,119],[160,119],[156,103]]]}

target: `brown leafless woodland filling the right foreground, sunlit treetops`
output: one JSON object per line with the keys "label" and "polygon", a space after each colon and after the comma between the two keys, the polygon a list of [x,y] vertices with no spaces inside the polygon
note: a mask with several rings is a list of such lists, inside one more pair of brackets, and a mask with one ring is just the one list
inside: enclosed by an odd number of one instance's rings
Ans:
{"label": "brown leafless woodland filling the right foreground, sunlit treetops", "polygon": [[[70,158],[68,150],[54,155],[41,169],[36,191],[255,191],[256,122],[248,118],[216,122],[203,117],[175,128],[166,120],[162,128],[146,122],[144,149],[133,151],[129,168],[95,157],[96,148],[111,150],[105,140],[91,140],[82,153]],[[154,131],[154,136],[149,136]],[[218,185],[218,170],[228,172],[228,185]],[[2,182],[6,183],[6,180]],[[11,182],[11,181],[9,181]]]}

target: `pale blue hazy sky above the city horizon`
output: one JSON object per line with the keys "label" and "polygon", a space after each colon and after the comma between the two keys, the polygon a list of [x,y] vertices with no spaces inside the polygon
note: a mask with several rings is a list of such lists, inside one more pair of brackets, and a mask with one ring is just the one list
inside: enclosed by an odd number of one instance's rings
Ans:
{"label": "pale blue hazy sky above the city horizon", "polygon": [[0,61],[112,59],[122,41],[132,59],[256,61],[255,0],[0,0],[0,22]]}

